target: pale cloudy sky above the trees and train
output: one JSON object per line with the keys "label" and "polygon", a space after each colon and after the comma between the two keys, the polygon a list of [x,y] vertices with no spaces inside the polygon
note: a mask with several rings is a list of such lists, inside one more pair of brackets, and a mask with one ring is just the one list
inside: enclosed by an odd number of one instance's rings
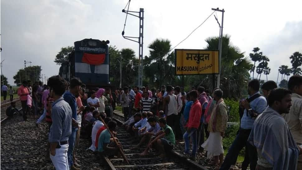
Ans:
{"label": "pale cloudy sky above the trees and train", "polygon": [[[24,60],[42,66],[46,77],[57,75],[54,63],[61,47],[73,46],[84,38],[109,40],[118,49],[132,48],[138,56],[138,43],[122,37],[127,0],[1,0],[1,61],[3,75],[13,85],[13,76],[24,68]],[[259,47],[268,56],[271,74],[277,80],[278,67],[291,67],[290,55],[302,53],[302,1],[200,1],[132,0],[130,11],[144,8],[143,55],[156,38],[177,45],[200,25],[211,8],[224,8],[223,33],[231,36],[245,56]],[[221,12],[214,13],[221,23]],[[139,19],[129,16],[125,36],[138,36]],[[219,26],[212,15],[177,49],[203,49],[205,39],[218,36]],[[29,66],[30,64],[27,64]],[[263,77],[264,78],[264,77]],[[280,80],[280,78],[279,78]]]}

